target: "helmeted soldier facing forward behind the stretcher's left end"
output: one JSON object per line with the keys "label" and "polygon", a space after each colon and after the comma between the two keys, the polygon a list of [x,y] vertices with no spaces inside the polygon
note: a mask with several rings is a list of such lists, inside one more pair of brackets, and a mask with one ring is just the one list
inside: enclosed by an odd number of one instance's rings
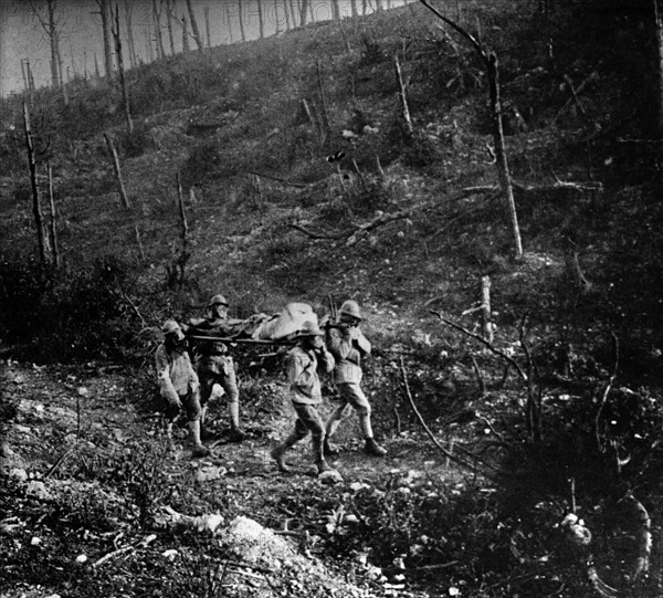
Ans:
{"label": "helmeted soldier facing forward behind the stretcher's left end", "polygon": [[[188,334],[203,336],[225,336],[228,325],[228,301],[223,295],[214,295],[208,304],[208,316],[189,321]],[[207,405],[215,384],[219,384],[228,396],[231,442],[241,442],[246,433],[240,428],[240,391],[235,376],[234,363],[228,355],[228,347],[218,340],[196,340],[196,369],[200,378],[203,422]]]}

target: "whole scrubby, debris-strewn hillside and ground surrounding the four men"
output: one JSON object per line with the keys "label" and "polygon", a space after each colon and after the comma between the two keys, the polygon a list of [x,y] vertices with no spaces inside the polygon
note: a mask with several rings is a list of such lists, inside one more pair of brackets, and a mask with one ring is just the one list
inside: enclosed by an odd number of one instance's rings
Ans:
{"label": "whole scrubby, debris-strewn hillside and ground surrounding the four men", "polygon": [[[28,98],[3,99],[3,598],[661,596],[653,21],[644,3],[538,4],[453,15],[501,59],[522,260],[486,73],[419,4],[133,70],[133,135],[105,81],[71,83],[66,106],[38,91],[57,266],[35,249]],[[282,354],[241,348],[249,442],[207,464],[168,453],[150,379],[159,325],[220,290],[235,317],[358,300],[390,457],[356,455],[348,424],[343,484],[307,476],[304,449],[298,474],[276,475],[266,450],[291,421]],[[167,507],[222,527],[249,516],[327,581],[308,571],[296,586],[217,531],[173,527]]]}

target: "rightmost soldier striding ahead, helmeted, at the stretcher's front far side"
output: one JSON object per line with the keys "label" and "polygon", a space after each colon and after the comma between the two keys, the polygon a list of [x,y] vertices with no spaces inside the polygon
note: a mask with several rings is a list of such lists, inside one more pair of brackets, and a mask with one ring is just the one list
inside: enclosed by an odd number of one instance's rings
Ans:
{"label": "rightmost soldier striding ahead, helmeted, at the stretcher's front far side", "polygon": [[361,359],[370,355],[370,343],[359,329],[361,312],[356,301],[346,301],[339,310],[339,321],[327,328],[329,352],[336,359],[335,380],[340,394],[340,405],[334,410],[325,427],[325,454],[337,454],[338,449],[329,439],[336,432],[340,420],[349,415],[354,407],[359,416],[365,438],[364,451],[373,457],[385,457],[387,451],[380,447],[370,423],[370,403],[361,390]]}

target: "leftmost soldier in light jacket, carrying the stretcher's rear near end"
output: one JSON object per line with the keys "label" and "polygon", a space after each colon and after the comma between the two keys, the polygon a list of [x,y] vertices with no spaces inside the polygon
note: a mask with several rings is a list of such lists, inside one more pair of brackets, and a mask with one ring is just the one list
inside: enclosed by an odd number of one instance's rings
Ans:
{"label": "leftmost soldier in light jacket, carrying the stretcher's rear near end", "polygon": [[187,353],[185,333],[173,319],[167,321],[161,332],[165,337],[157,347],[155,361],[159,391],[168,402],[166,433],[172,442],[172,423],[183,408],[193,440],[193,457],[207,457],[210,450],[200,441],[200,384]]}

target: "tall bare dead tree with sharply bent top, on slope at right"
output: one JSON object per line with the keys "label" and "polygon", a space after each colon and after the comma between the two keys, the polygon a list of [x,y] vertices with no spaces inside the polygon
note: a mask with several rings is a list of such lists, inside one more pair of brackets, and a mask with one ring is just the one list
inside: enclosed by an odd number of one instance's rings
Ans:
{"label": "tall bare dead tree with sharply bent top, on slope at right", "polygon": [[469,33],[457,23],[448,19],[439,10],[433,8],[428,0],[419,0],[424,7],[432,11],[439,19],[444,21],[448,25],[454,29],[463,38],[465,38],[472,46],[476,50],[486,73],[488,76],[488,90],[491,96],[491,120],[493,126],[493,141],[495,144],[495,167],[497,168],[497,178],[499,179],[499,186],[505,196],[506,207],[511,219],[512,232],[514,235],[514,253],[516,260],[523,258],[523,241],[520,239],[520,228],[518,225],[518,216],[516,211],[516,201],[514,199],[514,189],[512,179],[508,170],[508,160],[506,158],[506,146],[504,143],[504,129],[502,126],[502,104],[499,98],[499,61],[497,54],[484,48],[483,43],[477,40],[474,35]]}

